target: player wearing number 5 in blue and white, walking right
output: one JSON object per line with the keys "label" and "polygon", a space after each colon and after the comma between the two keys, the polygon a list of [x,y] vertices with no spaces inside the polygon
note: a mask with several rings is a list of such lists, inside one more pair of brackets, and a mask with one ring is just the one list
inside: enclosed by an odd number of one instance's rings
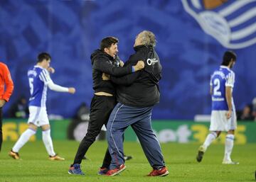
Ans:
{"label": "player wearing number 5 in blue and white, walking right", "polygon": [[35,66],[28,69],[28,82],[31,92],[31,98],[29,98],[29,118],[28,129],[22,133],[14,147],[9,152],[9,156],[14,159],[20,159],[18,151],[23,147],[32,135],[36,134],[38,127],[42,129],[43,144],[49,155],[50,160],[64,160],[55,154],[53,150],[53,141],[50,137],[50,123],[46,111],[46,94],[47,89],[59,92],[75,93],[75,88],[63,87],[54,84],[50,79],[50,74],[55,70],[50,67],[50,55],[46,52],[42,52],[38,55],[38,62]]}

